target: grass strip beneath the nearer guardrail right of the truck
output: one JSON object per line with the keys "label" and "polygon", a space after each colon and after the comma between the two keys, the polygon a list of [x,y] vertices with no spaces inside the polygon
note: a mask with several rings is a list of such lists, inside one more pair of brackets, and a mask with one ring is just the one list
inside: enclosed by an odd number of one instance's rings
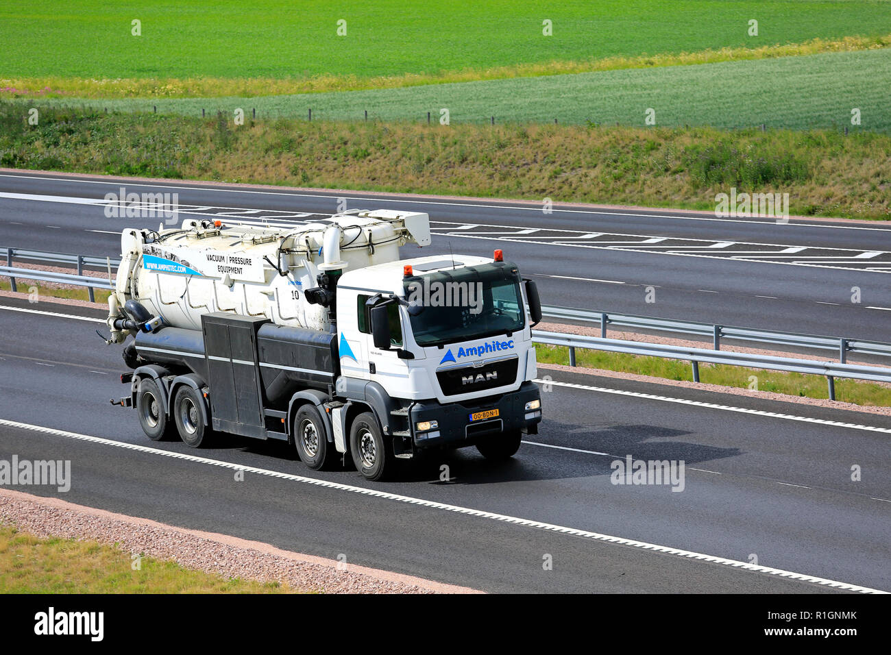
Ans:
{"label": "grass strip beneath the nearer guardrail right of the truck", "polygon": [[[535,345],[535,356],[541,364],[569,364],[568,348],[546,344]],[[649,375],[666,380],[692,381],[690,362],[661,357],[609,353],[576,348],[576,365],[619,373]],[[724,364],[699,364],[699,381],[736,389],[772,391],[788,396],[828,398],[826,378],[819,375],[766,371]],[[857,380],[835,381],[836,400],[854,405],[891,406],[891,388]]]}

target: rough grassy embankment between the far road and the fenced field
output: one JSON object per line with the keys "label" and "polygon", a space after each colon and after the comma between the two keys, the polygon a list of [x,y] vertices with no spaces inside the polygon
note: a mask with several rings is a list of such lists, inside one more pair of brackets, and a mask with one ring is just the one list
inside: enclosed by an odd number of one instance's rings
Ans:
{"label": "rough grassy embankment between the far road and the fenced field", "polygon": [[0,102],[0,166],[712,211],[735,186],[788,192],[793,215],[891,218],[891,135],[867,132],[24,116]]}

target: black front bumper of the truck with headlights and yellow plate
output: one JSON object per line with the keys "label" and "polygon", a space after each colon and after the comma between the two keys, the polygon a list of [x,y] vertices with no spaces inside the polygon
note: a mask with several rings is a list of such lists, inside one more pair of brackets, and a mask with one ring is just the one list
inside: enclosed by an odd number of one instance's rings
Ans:
{"label": "black front bumper of the truck with headlights and yellow plate", "polygon": [[[472,446],[478,438],[487,435],[522,430],[527,434],[538,432],[542,409],[526,411],[528,402],[541,401],[535,382],[526,381],[513,393],[486,398],[483,402],[448,403],[426,400],[412,405],[409,413],[412,440],[416,448],[435,446]],[[498,416],[484,421],[470,421],[471,413],[498,410]],[[417,424],[436,421],[437,428],[418,432]]]}

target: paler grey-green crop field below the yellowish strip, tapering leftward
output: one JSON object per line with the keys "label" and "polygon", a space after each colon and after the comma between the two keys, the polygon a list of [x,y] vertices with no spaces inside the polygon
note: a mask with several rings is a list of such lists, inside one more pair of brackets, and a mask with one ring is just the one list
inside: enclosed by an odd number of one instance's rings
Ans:
{"label": "paler grey-green crop field below the yellowish strip, tapering leftward", "polygon": [[[644,126],[647,108],[658,126],[840,128],[891,131],[891,48],[853,53],[822,53],[760,61],[725,61],[650,70],[607,70],[555,75],[411,86],[370,91],[274,95],[262,98],[176,98],[84,101],[110,111],[153,111],[200,116],[201,109],[233,116],[384,121],[437,121],[448,108],[452,123],[595,123]],[[20,101],[29,102],[29,101]],[[51,100],[51,105],[78,102]],[[851,125],[851,110],[861,111],[861,126]]]}

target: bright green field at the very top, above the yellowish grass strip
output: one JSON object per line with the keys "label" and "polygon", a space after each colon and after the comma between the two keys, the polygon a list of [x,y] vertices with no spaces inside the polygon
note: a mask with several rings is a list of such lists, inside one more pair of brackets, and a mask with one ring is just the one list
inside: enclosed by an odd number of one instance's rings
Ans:
{"label": "bright green field at the very top, above the yellowish grass strip", "polygon": [[[751,19],[758,36],[748,36]],[[0,6],[0,26],[4,79],[375,78],[879,36],[891,33],[891,3],[47,0]]]}

